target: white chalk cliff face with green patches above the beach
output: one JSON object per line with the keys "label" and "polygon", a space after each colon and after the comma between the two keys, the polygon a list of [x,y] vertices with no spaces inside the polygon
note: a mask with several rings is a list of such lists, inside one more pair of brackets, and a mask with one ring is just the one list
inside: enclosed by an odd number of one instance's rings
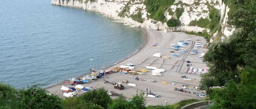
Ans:
{"label": "white chalk cliff face with green patches above the beach", "polygon": [[[110,17],[118,22],[134,27],[146,27],[164,30],[166,32],[205,32],[211,35],[211,41],[217,36],[221,36],[221,39],[229,37],[235,30],[232,26],[227,24],[229,8],[222,3],[222,0],[175,0],[175,2],[168,6],[164,12],[166,21],[176,19],[180,22],[180,25],[175,27],[169,27],[167,22],[161,22],[150,18],[149,16],[151,13],[148,12],[145,1],[146,0],[52,0],[51,4],[98,12],[103,16]],[[177,9],[182,10],[181,15],[177,15]],[[211,28],[207,26],[204,27],[204,24],[197,24],[204,20],[211,22],[212,10],[215,9],[218,10],[217,15],[220,16],[218,25],[220,25],[221,29],[212,29],[214,26],[218,26],[217,24],[211,25]],[[139,20],[138,15],[140,17]],[[197,23],[193,24],[193,22]]]}

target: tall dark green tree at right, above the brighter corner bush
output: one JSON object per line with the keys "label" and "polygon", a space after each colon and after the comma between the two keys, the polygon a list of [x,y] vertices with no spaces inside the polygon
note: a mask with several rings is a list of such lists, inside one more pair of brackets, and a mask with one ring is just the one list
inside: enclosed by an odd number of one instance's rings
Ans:
{"label": "tall dark green tree at right, above the brighter corner bush", "polygon": [[205,54],[204,61],[208,62],[210,70],[200,86],[224,86],[229,80],[239,83],[239,70],[256,68],[256,2],[244,2],[230,18],[229,23],[237,28],[235,33],[230,39],[213,42]]}

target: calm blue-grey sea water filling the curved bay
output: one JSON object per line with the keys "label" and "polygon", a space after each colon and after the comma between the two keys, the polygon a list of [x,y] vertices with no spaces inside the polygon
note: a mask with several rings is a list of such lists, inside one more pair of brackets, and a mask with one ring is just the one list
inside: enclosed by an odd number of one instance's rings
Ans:
{"label": "calm blue-grey sea water filling the curved bay", "polygon": [[66,74],[75,78],[113,65],[145,39],[139,28],[50,0],[5,1],[0,15],[0,82],[15,88],[47,87]]}

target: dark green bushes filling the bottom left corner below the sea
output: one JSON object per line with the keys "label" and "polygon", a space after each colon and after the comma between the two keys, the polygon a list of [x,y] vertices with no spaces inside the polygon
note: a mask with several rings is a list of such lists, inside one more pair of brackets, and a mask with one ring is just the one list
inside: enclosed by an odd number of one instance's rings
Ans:
{"label": "dark green bushes filling the bottom left corner below the sea", "polygon": [[61,99],[37,86],[17,91],[0,84],[0,108],[62,108]]}

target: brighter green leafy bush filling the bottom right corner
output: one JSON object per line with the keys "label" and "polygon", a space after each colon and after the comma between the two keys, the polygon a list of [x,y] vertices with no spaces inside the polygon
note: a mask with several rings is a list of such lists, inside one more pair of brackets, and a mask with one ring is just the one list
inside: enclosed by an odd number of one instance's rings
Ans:
{"label": "brighter green leafy bush filling the bottom right corner", "polygon": [[246,69],[241,73],[241,82],[229,81],[225,88],[214,88],[210,97],[212,108],[256,108],[256,70]]}

